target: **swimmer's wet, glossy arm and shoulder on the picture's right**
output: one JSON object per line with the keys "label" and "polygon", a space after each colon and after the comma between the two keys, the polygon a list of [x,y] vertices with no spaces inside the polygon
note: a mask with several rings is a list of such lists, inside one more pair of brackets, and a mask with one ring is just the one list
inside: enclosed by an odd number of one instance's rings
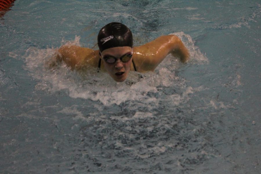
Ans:
{"label": "swimmer's wet, glossy arm and shoulder on the picture's right", "polygon": [[[140,72],[153,71],[168,55],[179,57],[185,63],[189,60],[189,51],[182,41],[175,35],[166,35],[144,44],[134,47],[134,60]],[[136,63],[137,61],[137,63]]]}

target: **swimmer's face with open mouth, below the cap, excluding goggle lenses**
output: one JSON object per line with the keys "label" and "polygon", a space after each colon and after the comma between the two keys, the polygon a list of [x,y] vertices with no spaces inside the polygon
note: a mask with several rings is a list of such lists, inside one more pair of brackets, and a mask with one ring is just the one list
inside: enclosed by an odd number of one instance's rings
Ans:
{"label": "swimmer's face with open mouth, below the cap, excluding goggle lenses", "polygon": [[121,57],[131,54],[132,48],[128,46],[108,48],[102,52],[102,56],[112,56],[117,58],[114,63],[108,63],[103,58],[104,68],[109,75],[117,82],[126,80],[131,69],[132,57],[129,61],[121,61]]}

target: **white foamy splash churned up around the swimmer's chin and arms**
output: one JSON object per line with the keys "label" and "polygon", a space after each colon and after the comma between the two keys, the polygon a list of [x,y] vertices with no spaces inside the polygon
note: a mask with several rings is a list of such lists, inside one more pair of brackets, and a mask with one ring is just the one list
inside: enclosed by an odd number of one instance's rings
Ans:
{"label": "white foamy splash churned up around the swimmer's chin and arms", "polygon": [[[193,64],[204,64],[208,59],[200,52],[192,38],[184,32],[172,33],[182,39],[191,53]],[[74,41],[66,42],[66,45],[78,45],[80,37]],[[62,41],[64,43],[65,41]],[[155,72],[137,73],[130,72],[130,75],[123,83],[113,81],[107,73],[96,73],[95,68],[86,72],[71,71],[64,63],[48,68],[48,60],[56,54],[55,48],[44,50],[29,48],[26,51],[26,69],[32,77],[39,79],[35,86],[37,90],[46,90],[54,93],[66,90],[72,98],[91,99],[99,101],[105,106],[113,104],[120,105],[127,101],[142,101],[143,104],[157,106],[162,100],[174,105],[188,101],[188,93],[193,89],[186,86],[186,80],[175,75],[175,70],[184,66],[177,59],[168,55]],[[174,60],[173,60],[174,59]],[[108,80],[110,79],[110,80]],[[98,88],[97,88],[98,86]],[[162,90],[165,87],[173,88],[166,95]],[[175,89],[184,89],[179,93]]]}

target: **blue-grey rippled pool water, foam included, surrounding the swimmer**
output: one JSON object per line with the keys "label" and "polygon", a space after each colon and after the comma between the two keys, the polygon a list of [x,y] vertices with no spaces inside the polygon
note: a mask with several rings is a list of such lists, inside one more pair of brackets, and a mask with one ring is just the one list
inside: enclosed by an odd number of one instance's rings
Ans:
{"label": "blue-grey rippled pool water, foam included, surrounding the swimmer", "polygon": [[[0,20],[0,173],[259,173],[260,1],[21,1]],[[191,52],[124,83],[46,67],[119,21]]]}

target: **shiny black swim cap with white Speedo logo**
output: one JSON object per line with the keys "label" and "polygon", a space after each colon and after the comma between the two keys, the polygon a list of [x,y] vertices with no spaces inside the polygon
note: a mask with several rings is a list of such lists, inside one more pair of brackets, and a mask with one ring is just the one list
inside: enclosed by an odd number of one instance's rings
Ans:
{"label": "shiny black swim cap with white Speedo logo", "polygon": [[133,46],[131,30],[119,22],[108,23],[98,34],[100,51],[118,46]]}

